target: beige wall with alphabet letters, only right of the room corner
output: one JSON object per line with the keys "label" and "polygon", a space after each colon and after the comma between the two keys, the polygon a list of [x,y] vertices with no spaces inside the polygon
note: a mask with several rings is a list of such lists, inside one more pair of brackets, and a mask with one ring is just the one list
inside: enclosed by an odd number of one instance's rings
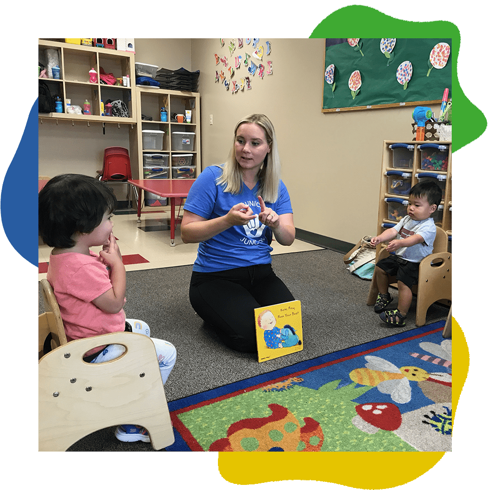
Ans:
{"label": "beige wall with alphabet letters, only right of the room corner", "polygon": [[[203,167],[226,159],[240,118],[264,113],[276,129],[296,227],[349,243],[375,234],[383,140],[412,139],[413,107],[322,113],[324,39],[263,38],[259,44],[265,41],[272,50],[263,60],[273,61],[273,74],[259,79],[256,73],[252,89],[234,94],[214,81],[224,68],[214,54],[226,54],[234,66],[244,48],[230,56],[230,39],[224,47],[219,39],[191,41],[192,70],[200,70]],[[243,74],[241,65],[233,78]]]}

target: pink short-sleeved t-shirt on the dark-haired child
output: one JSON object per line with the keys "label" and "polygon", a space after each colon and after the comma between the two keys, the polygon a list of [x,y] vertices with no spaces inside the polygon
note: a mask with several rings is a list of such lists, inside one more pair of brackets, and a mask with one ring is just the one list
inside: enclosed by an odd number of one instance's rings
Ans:
{"label": "pink short-sleeved t-shirt on the dark-haired child", "polygon": [[[125,329],[125,313],[106,313],[92,301],[112,288],[110,272],[98,255],[51,255],[46,279],[53,287],[68,341]],[[126,299],[125,299],[126,302]],[[103,346],[92,349],[87,355]]]}

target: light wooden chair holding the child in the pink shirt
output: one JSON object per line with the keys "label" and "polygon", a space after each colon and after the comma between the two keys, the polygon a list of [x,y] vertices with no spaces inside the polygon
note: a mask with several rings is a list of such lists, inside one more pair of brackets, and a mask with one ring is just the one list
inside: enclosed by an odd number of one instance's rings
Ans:
{"label": "light wooden chair holding the child in the pink shirt", "polygon": [[[42,279],[45,312],[39,315],[39,451],[65,451],[105,427],[138,424],[155,450],[174,443],[174,432],[153,341],[116,332],[67,342],[53,289]],[[52,335],[53,350],[43,355]],[[121,357],[90,364],[83,355],[106,344],[126,348]]]}

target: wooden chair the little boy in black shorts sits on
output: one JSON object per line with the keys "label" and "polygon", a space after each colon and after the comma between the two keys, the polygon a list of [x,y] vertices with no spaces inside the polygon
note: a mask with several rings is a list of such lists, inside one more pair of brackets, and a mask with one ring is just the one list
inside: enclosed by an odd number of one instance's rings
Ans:
{"label": "wooden chair the little boy in black shorts sits on", "polygon": [[[388,255],[389,253],[382,246],[376,257],[376,262]],[[448,252],[448,235],[442,228],[437,227],[433,253],[421,261],[419,265],[419,283],[412,287],[412,292],[416,295],[416,326],[425,325],[427,310],[431,304],[439,300],[452,300],[451,282],[452,267],[451,253]],[[390,276],[388,284],[396,283],[397,279],[394,276]],[[369,294],[367,295],[367,305],[376,303],[378,292],[375,269]]]}

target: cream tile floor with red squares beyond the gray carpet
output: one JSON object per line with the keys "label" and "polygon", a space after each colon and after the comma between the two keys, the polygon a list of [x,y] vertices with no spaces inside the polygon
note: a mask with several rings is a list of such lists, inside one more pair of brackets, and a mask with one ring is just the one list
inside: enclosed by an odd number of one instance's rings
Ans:
{"label": "cream tile floor with red squares beyond the gray carpet", "polygon": [[[197,255],[197,243],[183,243],[180,238],[180,226],[175,233],[175,247],[170,246],[170,227],[168,213],[148,213],[141,215],[141,223],[137,223],[135,213],[126,214],[116,211],[112,218],[114,236],[126,265],[126,271],[174,267],[194,263]],[[283,247],[273,241],[273,255],[308,250],[321,250],[301,240],[295,240],[290,247]],[[98,253],[101,248],[94,248]],[[47,263],[51,247],[39,246],[39,280],[46,277]]]}

